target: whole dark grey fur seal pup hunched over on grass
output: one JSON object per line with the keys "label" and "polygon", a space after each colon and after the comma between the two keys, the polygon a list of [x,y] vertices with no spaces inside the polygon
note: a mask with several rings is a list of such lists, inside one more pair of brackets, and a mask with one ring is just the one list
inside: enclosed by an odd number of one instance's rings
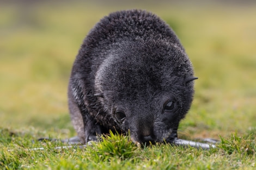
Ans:
{"label": "whole dark grey fur seal pup hunched over on grass", "polygon": [[125,10],[103,17],[76,56],[69,110],[82,143],[109,130],[133,142],[172,142],[193,99],[193,67],[159,17]]}

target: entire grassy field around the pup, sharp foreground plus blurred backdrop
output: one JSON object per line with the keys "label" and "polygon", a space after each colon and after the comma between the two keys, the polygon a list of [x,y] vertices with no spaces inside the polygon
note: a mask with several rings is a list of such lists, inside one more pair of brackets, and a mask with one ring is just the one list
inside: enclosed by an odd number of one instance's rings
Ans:
{"label": "entire grassy field around the pup, sharp foreground plus blurred backdrop", "polygon": [[[216,138],[217,148],[138,147],[122,135],[61,150],[36,141],[76,135],[66,97],[72,62],[101,17],[131,8],[155,12],[178,34],[199,77],[179,136]],[[0,5],[0,169],[255,168],[255,21],[256,5]]]}

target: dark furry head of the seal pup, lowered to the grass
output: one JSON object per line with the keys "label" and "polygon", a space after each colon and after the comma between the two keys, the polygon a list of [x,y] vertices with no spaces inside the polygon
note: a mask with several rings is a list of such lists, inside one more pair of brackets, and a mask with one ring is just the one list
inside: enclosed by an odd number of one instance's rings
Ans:
{"label": "dark furry head of the seal pup, lowered to the grass", "polygon": [[193,98],[193,69],[184,49],[164,40],[115,43],[96,72],[96,96],[134,142],[176,136]]}

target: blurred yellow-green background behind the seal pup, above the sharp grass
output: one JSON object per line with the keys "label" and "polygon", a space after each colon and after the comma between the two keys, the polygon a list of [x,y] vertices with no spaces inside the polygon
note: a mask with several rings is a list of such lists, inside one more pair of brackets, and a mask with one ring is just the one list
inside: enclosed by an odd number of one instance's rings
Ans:
{"label": "blurred yellow-green background behind the seal pup, above the sharp grass", "polygon": [[174,29],[199,77],[180,134],[255,131],[255,1],[0,1],[0,127],[75,135],[66,91],[78,49],[100,18],[133,8]]}

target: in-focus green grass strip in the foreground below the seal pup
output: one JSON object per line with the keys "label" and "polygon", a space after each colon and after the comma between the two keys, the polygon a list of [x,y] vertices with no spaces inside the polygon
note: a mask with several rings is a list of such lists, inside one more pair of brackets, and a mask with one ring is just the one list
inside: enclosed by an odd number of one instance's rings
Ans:
{"label": "in-focus green grass strip in the foreground below the seal pup", "polygon": [[[2,169],[252,169],[255,134],[221,138],[210,150],[170,144],[139,147],[128,136],[102,136],[84,148],[56,149],[61,142],[38,142],[33,133],[1,129]],[[26,139],[25,139],[26,138]],[[34,142],[33,142],[34,141]],[[44,150],[29,150],[44,147]]]}

